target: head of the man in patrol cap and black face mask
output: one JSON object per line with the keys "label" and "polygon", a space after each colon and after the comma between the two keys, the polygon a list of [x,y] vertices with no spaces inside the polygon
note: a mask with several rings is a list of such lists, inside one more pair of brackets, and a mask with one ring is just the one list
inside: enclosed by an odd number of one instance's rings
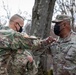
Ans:
{"label": "head of the man in patrol cap and black face mask", "polygon": [[52,22],[55,23],[54,33],[56,35],[59,35],[62,30],[65,31],[65,33],[66,31],[71,30],[71,17],[70,16],[57,15],[56,19]]}

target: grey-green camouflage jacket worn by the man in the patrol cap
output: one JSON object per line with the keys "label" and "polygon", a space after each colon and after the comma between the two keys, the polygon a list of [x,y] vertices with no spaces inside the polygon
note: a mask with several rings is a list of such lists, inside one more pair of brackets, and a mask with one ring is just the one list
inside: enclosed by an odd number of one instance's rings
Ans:
{"label": "grey-green camouflage jacket worn by the man in the patrol cap", "polygon": [[51,45],[54,75],[76,75],[76,33]]}

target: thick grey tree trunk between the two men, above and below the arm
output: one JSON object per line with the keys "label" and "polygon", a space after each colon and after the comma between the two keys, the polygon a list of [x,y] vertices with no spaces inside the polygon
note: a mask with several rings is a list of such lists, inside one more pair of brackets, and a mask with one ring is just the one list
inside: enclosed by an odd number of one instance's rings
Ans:
{"label": "thick grey tree trunk between the two men, above and below the arm", "polygon": [[[35,0],[35,4],[32,12],[32,25],[30,35],[35,35],[39,38],[46,38],[50,35],[51,20],[53,15],[54,4],[56,0]],[[38,74],[37,75],[49,75],[47,70],[50,72],[50,63],[47,64],[48,58],[47,48],[36,50],[33,54],[39,61]],[[50,62],[50,61],[49,61]],[[49,67],[48,67],[49,66]],[[50,74],[51,75],[51,74]]]}

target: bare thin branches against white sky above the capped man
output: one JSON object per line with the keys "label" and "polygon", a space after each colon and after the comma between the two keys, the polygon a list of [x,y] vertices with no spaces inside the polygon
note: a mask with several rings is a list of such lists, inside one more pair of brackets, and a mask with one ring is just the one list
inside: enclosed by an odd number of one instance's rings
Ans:
{"label": "bare thin branches against white sky above the capped man", "polygon": [[72,17],[72,29],[75,31],[75,13],[76,13],[76,3],[75,0],[57,0],[55,4],[54,14],[61,13],[70,15]]}

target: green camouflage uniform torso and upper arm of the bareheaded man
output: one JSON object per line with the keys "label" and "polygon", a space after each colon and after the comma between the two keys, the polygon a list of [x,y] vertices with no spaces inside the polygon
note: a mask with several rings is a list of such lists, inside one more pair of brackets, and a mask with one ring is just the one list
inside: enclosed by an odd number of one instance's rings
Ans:
{"label": "green camouflage uniform torso and upper arm of the bareheaded man", "polygon": [[20,33],[9,27],[0,30],[0,75],[35,75],[35,61],[27,59],[31,47],[31,41]]}

